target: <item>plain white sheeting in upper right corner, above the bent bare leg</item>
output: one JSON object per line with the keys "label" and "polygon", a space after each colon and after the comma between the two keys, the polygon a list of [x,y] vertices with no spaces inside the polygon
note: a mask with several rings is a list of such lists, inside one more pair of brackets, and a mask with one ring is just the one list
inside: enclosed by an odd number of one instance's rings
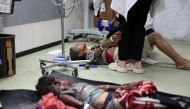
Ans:
{"label": "plain white sheeting in upper right corner, above the bent bare leg", "polygon": [[154,28],[168,39],[190,39],[190,0],[156,0]]}

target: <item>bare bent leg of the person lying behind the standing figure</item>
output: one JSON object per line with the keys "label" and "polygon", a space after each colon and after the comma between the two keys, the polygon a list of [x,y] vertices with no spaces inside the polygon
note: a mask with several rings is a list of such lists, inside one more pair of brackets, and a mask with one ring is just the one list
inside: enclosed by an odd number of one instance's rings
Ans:
{"label": "bare bent leg of the person lying behind the standing figure", "polygon": [[177,69],[190,69],[190,61],[180,56],[159,33],[153,32],[147,37],[150,45],[156,45],[175,62]]}

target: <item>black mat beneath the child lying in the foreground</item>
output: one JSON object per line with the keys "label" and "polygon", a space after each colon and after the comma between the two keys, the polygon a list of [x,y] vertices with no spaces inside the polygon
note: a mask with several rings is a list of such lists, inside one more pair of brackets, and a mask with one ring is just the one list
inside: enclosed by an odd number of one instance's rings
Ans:
{"label": "black mat beneath the child lying in the foreground", "polygon": [[[110,82],[103,82],[103,81],[94,81],[94,80],[87,80],[82,78],[76,78],[74,76],[69,76],[57,71],[52,71],[49,76],[59,77],[64,80],[69,80],[72,83],[77,82],[85,82],[92,85],[120,85]],[[173,95],[165,92],[158,91],[158,96],[170,96],[173,98],[180,98],[181,100],[190,101],[190,97],[180,96],[180,95]],[[15,90],[1,90],[0,91],[0,109],[36,109],[37,103],[40,99],[39,94],[35,90],[26,90],[26,89],[15,89]],[[167,100],[167,99],[166,99]],[[171,104],[172,105],[172,104]],[[190,106],[190,104],[189,104]],[[169,108],[169,109],[176,109]],[[187,109],[183,108],[183,109]]]}

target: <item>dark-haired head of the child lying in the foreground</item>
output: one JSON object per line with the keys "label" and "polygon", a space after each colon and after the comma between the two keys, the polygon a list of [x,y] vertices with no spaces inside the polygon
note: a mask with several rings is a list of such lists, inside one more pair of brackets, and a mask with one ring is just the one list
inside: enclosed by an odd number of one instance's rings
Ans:
{"label": "dark-haired head of the child lying in the foreground", "polygon": [[38,80],[36,85],[36,90],[41,94],[47,94],[53,92],[58,94],[61,90],[64,90],[66,87],[70,86],[71,83],[66,80],[61,80],[55,77],[44,76]]}

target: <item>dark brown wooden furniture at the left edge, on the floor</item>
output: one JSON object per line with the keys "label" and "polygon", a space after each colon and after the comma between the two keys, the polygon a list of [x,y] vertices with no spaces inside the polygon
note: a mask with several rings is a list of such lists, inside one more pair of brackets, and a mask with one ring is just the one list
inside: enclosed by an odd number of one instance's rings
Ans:
{"label": "dark brown wooden furniture at the left edge, on the floor", "polygon": [[15,36],[0,34],[0,78],[16,74]]}

